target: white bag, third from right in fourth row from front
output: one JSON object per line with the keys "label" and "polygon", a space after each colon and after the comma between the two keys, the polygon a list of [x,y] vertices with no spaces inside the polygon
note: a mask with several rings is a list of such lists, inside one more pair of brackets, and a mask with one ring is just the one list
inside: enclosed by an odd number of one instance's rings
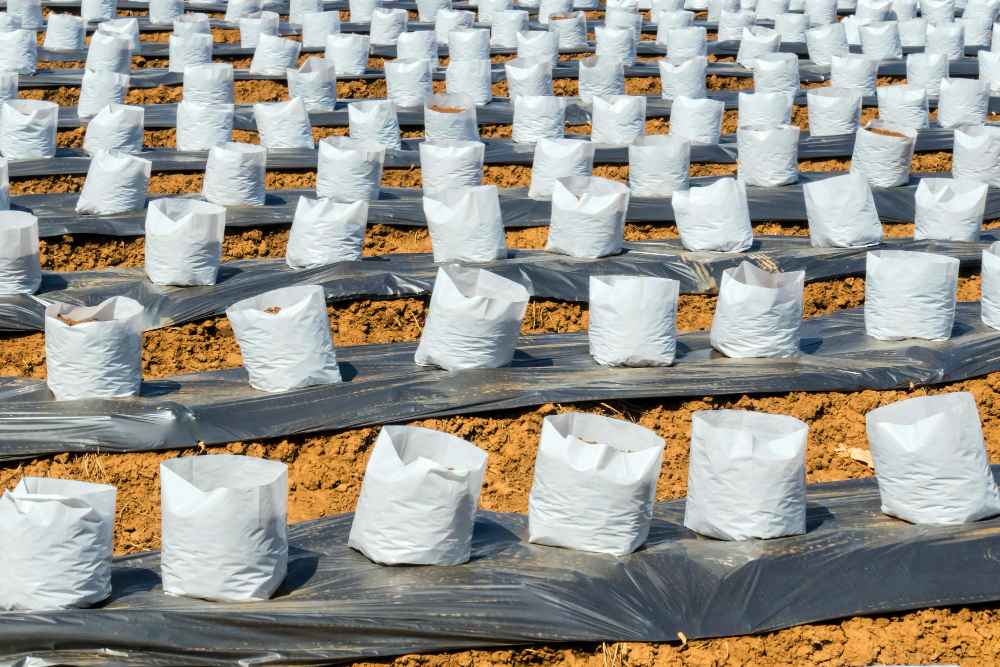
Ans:
{"label": "white bag, third from right in fourth row from front", "polygon": [[798,126],[741,126],[736,144],[738,178],[747,185],[773,188],[799,180]]}

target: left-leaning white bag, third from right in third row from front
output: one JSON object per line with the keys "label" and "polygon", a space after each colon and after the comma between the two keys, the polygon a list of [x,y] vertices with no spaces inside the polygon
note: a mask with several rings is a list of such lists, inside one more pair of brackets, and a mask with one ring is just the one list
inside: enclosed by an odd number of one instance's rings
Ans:
{"label": "left-leaning white bag, third from right in third row from front", "polygon": [[743,252],[753,245],[746,185],[720,178],[702,187],[675,190],[672,204],[681,243],[688,250]]}

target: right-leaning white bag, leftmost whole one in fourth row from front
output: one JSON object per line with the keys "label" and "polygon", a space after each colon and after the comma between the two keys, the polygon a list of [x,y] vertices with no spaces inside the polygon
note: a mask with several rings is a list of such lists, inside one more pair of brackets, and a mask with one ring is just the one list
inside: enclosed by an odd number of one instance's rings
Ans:
{"label": "right-leaning white bag, leftmost whole one in fourth row from front", "polygon": [[113,215],[142,210],[152,170],[149,160],[121,151],[98,151],[90,158],[76,212]]}

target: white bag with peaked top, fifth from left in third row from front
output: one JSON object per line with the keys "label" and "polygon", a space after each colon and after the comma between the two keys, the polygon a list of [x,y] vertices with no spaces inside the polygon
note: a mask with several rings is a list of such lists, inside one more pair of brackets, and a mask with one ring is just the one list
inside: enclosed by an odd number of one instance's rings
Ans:
{"label": "white bag with peaked top, fifth from left in third row from front", "polygon": [[556,179],[545,249],[585,259],[620,253],[628,202],[624,183],[594,176]]}

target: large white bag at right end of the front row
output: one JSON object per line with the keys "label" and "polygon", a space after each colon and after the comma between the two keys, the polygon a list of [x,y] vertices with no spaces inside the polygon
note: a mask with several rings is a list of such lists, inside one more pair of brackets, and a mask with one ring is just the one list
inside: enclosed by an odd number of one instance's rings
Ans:
{"label": "large white bag at right end of the front row", "polygon": [[1000,514],[976,399],[918,396],[865,416],[882,511],[916,524],[962,524]]}

